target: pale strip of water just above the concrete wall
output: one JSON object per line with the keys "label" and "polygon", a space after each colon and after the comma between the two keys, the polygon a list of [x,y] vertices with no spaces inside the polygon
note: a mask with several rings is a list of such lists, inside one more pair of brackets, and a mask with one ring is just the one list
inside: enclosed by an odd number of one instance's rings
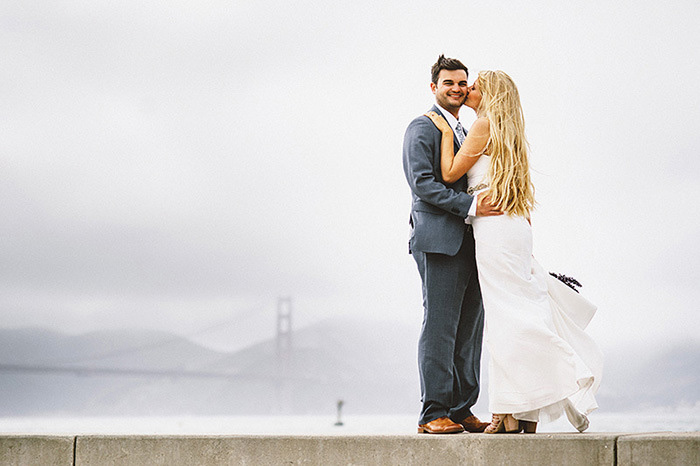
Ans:
{"label": "pale strip of water just above the concrete wall", "polygon": [[[477,413],[482,420],[490,416]],[[46,434],[414,434],[416,416],[169,416],[169,417],[8,417],[0,433]],[[637,413],[594,412],[588,432],[700,431],[700,406]],[[538,427],[539,432],[575,432],[566,419]]]}

